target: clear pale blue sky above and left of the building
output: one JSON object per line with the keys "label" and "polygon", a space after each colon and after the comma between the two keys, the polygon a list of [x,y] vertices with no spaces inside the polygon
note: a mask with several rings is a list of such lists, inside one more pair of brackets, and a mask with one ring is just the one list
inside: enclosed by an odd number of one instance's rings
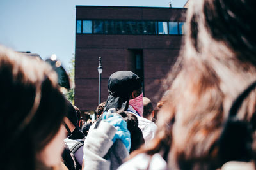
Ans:
{"label": "clear pale blue sky above and left of the building", "polygon": [[[183,7],[187,0],[171,0]],[[76,5],[159,6],[170,0],[0,0],[0,44],[47,59],[53,53],[69,67],[75,51]]]}

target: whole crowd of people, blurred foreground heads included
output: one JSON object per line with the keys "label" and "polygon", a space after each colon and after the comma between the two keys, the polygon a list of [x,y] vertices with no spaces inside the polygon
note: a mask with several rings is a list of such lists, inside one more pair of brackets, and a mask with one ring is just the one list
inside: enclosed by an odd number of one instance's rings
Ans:
{"label": "whole crowd of people, blurred foreground heads included", "polygon": [[256,1],[190,5],[158,110],[117,71],[83,125],[49,64],[0,46],[1,169],[256,169]]}

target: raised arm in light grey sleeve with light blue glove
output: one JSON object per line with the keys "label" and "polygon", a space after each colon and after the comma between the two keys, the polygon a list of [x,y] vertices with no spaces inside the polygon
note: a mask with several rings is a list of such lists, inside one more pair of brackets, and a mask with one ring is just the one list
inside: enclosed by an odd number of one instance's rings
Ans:
{"label": "raised arm in light grey sleeve with light blue glove", "polygon": [[105,116],[84,141],[83,169],[116,169],[128,157],[130,147],[126,122],[118,115]]}

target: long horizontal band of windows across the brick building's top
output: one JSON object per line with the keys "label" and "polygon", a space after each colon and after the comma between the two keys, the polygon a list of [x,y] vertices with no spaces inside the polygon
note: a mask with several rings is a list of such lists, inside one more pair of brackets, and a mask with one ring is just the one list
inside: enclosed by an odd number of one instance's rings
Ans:
{"label": "long horizontal band of windows across the brick building's top", "polygon": [[184,22],[136,20],[77,20],[77,34],[182,35]]}

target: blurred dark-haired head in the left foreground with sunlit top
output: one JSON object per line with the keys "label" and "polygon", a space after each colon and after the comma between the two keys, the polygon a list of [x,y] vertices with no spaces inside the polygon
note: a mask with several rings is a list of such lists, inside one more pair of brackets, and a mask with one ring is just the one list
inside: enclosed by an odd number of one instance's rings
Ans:
{"label": "blurred dark-haired head in the left foreground with sunlit top", "polygon": [[1,168],[35,169],[40,152],[60,129],[65,98],[43,61],[0,46]]}

